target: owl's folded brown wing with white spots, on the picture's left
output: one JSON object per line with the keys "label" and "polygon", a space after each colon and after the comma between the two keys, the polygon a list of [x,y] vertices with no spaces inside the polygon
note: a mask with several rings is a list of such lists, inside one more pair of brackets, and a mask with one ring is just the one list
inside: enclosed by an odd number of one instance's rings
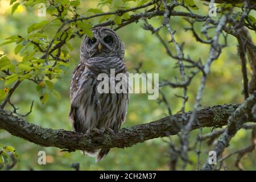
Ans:
{"label": "owl's folded brown wing with white spots, on the picture's left", "polygon": [[69,110],[69,120],[72,123],[73,130],[75,132],[81,132],[81,122],[79,121],[79,118],[77,117],[77,112],[78,112],[78,105],[76,104],[75,100],[77,97],[77,94],[79,93],[80,89],[80,84],[79,80],[84,74],[86,67],[85,64],[79,64],[77,67],[74,69],[72,73],[72,78],[71,78],[71,87],[70,87],[70,99],[71,99],[71,109]]}

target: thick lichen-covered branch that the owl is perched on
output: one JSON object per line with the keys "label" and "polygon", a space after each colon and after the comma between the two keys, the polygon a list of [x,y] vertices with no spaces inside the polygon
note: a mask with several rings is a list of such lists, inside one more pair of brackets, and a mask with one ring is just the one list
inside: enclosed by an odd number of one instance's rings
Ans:
{"label": "thick lichen-covered branch that the owl is perched on", "polygon": [[[199,125],[201,127],[222,127],[226,125],[228,117],[238,106],[238,104],[217,105],[198,110],[196,112],[198,122],[193,124],[191,130],[198,129]],[[40,146],[63,148],[69,152],[92,148],[124,148],[148,139],[166,137],[179,133],[179,129],[175,127],[175,123],[183,120],[181,118],[182,115],[175,114],[172,117],[165,117],[154,122],[126,127],[119,130],[115,135],[105,133],[103,135],[92,134],[86,137],[85,134],[65,131],[63,129],[53,130],[43,128],[11,115],[7,111],[0,110],[0,129],[9,131],[10,134],[16,137],[23,138]],[[185,113],[185,115],[189,118],[191,111]]]}

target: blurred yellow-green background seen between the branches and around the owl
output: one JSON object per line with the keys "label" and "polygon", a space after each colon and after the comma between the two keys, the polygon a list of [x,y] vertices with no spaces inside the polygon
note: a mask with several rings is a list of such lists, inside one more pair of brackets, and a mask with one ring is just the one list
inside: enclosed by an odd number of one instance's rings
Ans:
{"label": "blurred yellow-green background seen between the branches and around the owl", "polygon": [[[96,8],[99,1],[89,0],[81,1],[81,12],[90,8]],[[195,1],[200,7],[195,13],[205,15],[207,7]],[[5,38],[11,35],[27,35],[27,27],[32,23],[40,22],[46,17],[36,16],[36,7],[34,9],[26,9],[19,6],[14,15],[11,15],[10,1],[0,1],[0,43],[5,41]],[[111,11],[107,6],[102,7],[104,11]],[[184,9],[177,9],[185,11]],[[254,14],[255,16],[255,14]],[[98,19],[95,20],[97,23]],[[160,19],[154,18],[150,20],[155,27],[159,25]],[[161,80],[166,79],[175,81],[175,76],[179,77],[179,69],[175,68],[176,60],[171,59],[166,55],[166,51],[159,40],[149,31],[142,28],[143,22],[133,23],[129,26],[119,29],[117,32],[123,42],[125,43],[126,53],[125,61],[129,72],[135,72],[134,68],[143,63],[142,71],[150,73],[159,73]],[[190,55],[193,59],[201,59],[205,61],[208,57],[209,47],[205,44],[196,42],[192,33],[183,30],[188,26],[188,23],[181,17],[172,17],[171,26],[176,30],[175,38],[181,43],[185,42],[185,55]],[[200,31],[202,24],[196,24],[196,29]],[[47,34],[52,36],[52,30],[48,30]],[[167,32],[161,31],[160,34],[170,39]],[[251,31],[254,43],[256,42],[255,32]],[[72,40],[74,50],[71,52],[71,57],[76,64],[79,63],[79,52],[81,40],[75,38]],[[22,57],[15,55],[15,44],[0,47],[0,53],[5,52],[9,59],[13,61],[20,61]],[[173,51],[174,47],[170,46]],[[20,113],[26,113],[30,110],[31,102],[34,100],[34,107],[32,113],[26,118],[28,122],[35,123],[42,127],[50,127],[52,129],[72,130],[71,124],[68,121],[69,110],[69,80],[72,69],[75,64],[67,70],[64,77],[60,80],[53,80],[55,82],[55,89],[61,94],[61,101],[56,100],[51,96],[49,101],[42,105],[39,101],[38,93],[36,92],[35,84],[31,81],[24,81],[16,90],[12,100],[18,106]],[[249,68],[249,67],[248,67]],[[249,69],[250,72],[250,69]],[[189,101],[186,110],[189,111],[195,103],[195,96],[197,88],[200,83],[200,74],[197,75],[188,88]],[[0,84],[3,89],[3,84]],[[166,94],[170,102],[172,112],[176,113],[180,110],[181,99],[175,97],[175,94],[180,94],[181,89],[164,88],[163,92]],[[220,58],[214,61],[211,73],[208,77],[207,85],[204,90],[202,100],[203,106],[213,106],[221,104],[234,104],[243,101],[242,95],[242,75],[240,59],[237,55],[237,42],[232,36],[228,37],[228,47],[224,49]],[[11,109],[11,107],[6,107]],[[167,115],[167,109],[163,103],[158,104],[156,100],[147,100],[147,94],[131,94],[130,105],[126,123],[123,127],[138,125],[154,121]],[[210,129],[203,129],[203,133],[209,132]],[[193,144],[199,130],[192,131],[190,142]],[[172,137],[176,144],[179,144],[177,137]],[[0,144],[5,146],[13,146],[20,156],[20,162],[14,169],[43,169],[43,170],[72,170],[71,164],[75,162],[80,163],[81,170],[168,170],[168,162],[170,155],[168,153],[168,143],[164,139],[147,140],[144,143],[139,143],[129,148],[112,148],[105,159],[99,163],[94,163],[94,158],[83,156],[80,151],[68,153],[61,152],[59,148],[41,147],[36,144],[27,142],[26,140],[14,137],[6,131],[0,130]],[[236,137],[232,139],[230,146],[225,150],[224,155],[238,148],[244,147],[250,142],[250,131],[240,130]],[[208,151],[213,146],[207,146],[203,143],[201,163],[203,164],[207,158]],[[46,151],[47,164],[38,164],[38,152]],[[196,152],[190,152],[189,156],[193,162],[192,165],[187,166],[186,169],[196,169],[197,155]],[[234,160],[236,155],[226,160],[228,169],[236,169],[234,167]],[[256,170],[256,154],[247,154],[242,159],[242,164],[245,169]],[[181,166],[179,163],[178,168]]]}

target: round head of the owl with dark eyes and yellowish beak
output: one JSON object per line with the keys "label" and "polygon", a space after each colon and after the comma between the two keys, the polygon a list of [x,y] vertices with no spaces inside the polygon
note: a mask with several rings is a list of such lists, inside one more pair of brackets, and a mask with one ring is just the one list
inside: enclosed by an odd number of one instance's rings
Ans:
{"label": "round head of the owl with dark eyes and yellowish beak", "polygon": [[90,57],[117,56],[121,59],[125,55],[125,48],[119,36],[110,28],[93,28],[93,37],[85,36],[82,41],[80,59],[87,60]]}

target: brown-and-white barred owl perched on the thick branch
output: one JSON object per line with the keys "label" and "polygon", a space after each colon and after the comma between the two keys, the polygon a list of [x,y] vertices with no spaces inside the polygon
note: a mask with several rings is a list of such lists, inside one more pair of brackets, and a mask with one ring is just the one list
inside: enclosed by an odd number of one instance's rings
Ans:
{"label": "brown-and-white barred owl perched on the thick branch", "polygon": [[[69,120],[77,133],[102,134],[108,131],[114,134],[125,122],[128,93],[99,93],[97,76],[100,73],[110,76],[110,69],[127,75],[123,62],[125,49],[121,39],[110,28],[97,27],[92,31],[93,38],[85,36],[82,41],[80,64],[72,73]],[[109,150],[92,148],[82,152],[96,157],[98,162]]]}

